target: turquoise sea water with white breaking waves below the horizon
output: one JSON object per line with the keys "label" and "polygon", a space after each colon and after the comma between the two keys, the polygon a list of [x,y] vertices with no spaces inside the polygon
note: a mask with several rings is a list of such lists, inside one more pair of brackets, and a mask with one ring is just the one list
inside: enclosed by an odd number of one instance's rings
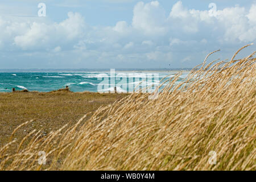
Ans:
{"label": "turquoise sea water with white breaking waves below the horizon", "polygon": [[[148,73],[157,73],[160,81],[168,75],[168,77],[173,77],[177,72],[116,72],[114,77],[118,73],[127,77],[130,74],[129,76],[132,78],[127,79],[127,85],[133,85],[135,88],[139,82],[146,86],[159,84],[158,79],[147,79],[145,74],[147,76]],[[29,91],[50,92],[65,86],[69,86],[72,92],[98,92],[98,84],[102,82],[102,78],[98,78],[100,74],[107,75],[109,80],[110,77],[113,77],[110,72],[0,72],[0,92],[11,92],[12,88],[16,90],[28,89]],[[178,81],[181,81],[187,74],[188,72],[183,72]],[[115,79],[115,84],[118,84],[120,79]],[[114,85],[110,84],[109,88],[102,89],[113,90],[113,88]],[[122,86],[117,89],[120,92],[124,91]]]}

